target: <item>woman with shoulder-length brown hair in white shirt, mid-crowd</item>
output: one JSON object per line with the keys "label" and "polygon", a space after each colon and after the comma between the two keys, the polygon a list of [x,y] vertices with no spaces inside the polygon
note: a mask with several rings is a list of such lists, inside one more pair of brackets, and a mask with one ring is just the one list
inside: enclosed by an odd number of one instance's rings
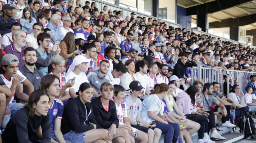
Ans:
{"label": "woman with shoulder-length brown hair in white shirt, mid-crowd", "polygon": [[[129,85],[132,81],[137,81],[137,77],[134,74],[135,71],[135,61],[132,59],[128,59],[125,63],[124,63],[125,67],[126,67],[126,73],[123,74],[120,78],[120,86],[124,87],[125,90],[130,89]],[[130,90],[125,91],[124,93],[125,95],[130,94]]]}

